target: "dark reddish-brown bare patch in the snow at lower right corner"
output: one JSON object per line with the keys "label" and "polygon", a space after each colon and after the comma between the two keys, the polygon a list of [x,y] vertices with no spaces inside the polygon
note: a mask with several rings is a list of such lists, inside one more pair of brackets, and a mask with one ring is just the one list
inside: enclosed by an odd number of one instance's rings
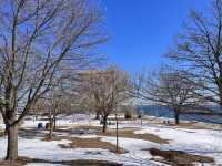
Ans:
{"label": "dark reddish-brown bare patch in the snow at lower right corner", "polygon": [[214,159],[211,157],[192,155],[181,151],[161,151],[158,148],[150,148],[148,151],[153,157],[160,156],[173,166],[192,166],[193,163],[214,163]]}

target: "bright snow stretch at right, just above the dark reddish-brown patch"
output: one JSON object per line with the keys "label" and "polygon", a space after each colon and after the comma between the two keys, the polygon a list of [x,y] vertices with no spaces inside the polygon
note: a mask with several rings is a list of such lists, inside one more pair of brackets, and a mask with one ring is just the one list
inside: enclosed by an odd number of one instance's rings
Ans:
{"label": "bright snow stretch at right, just above the dark reddish-brown patch", "polygon": [[162,149],[176,149],[186,153],[210,156],[216,164],[222,163],[222,132],[213,129],[172,128],[163,125],[147,125],[135,134],[151,133],[161,138],[169,139],[170,144],[161,146]]}

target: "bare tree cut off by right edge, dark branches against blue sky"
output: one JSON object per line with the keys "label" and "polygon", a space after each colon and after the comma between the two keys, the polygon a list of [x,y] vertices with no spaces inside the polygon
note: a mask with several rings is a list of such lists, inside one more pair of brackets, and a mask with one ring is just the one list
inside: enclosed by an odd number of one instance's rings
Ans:
{"label": "bare tree cut off by right edge, dark branches against blue sky", "polygon": [[[181,62],[184,70],[204,82],[205,98],[222,106],[222,0],[212,0],[205,15],[191,11],[185,31],[167,56]],[[200,94],[201,95],[201,94]]]}

